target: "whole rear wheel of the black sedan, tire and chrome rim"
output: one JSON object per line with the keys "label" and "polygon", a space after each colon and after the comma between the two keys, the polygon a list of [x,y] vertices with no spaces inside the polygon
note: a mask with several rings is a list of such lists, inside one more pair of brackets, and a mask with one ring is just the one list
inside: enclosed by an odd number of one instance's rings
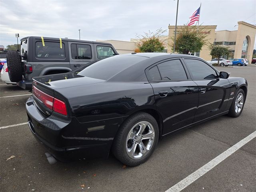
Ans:
{"label": "whole rear wheel of the black sedan, tire and chrome rim", "polygon": [[153,154],[158,136],[155,118],[148,113],[138,112],[128,117],[119,128],[112,152],[123,164],[138,166]]}

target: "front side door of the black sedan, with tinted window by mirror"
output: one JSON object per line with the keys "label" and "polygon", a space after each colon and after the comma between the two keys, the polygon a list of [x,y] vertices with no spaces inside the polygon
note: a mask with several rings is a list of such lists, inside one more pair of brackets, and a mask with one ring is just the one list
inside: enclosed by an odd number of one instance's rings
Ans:
{"label": "front side door of the black sedan, with tinted window by mirror", "polygon": [[218,71],[200,58],[184,58],[184,61],[199,90],[194,122],[224,112],[230,92],[228,79],[220,78]]}

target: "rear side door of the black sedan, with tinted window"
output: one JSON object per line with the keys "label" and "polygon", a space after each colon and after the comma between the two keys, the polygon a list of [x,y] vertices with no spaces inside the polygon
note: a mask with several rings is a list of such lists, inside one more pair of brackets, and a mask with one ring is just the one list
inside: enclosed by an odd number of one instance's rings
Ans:
{"label": "rear side door of the black sedan, with tinted window", "polygon": [[146,69],[164,122],[162,134],[192,124],[198,105],[198,86],[191,80],[181,58],[158,62]]}

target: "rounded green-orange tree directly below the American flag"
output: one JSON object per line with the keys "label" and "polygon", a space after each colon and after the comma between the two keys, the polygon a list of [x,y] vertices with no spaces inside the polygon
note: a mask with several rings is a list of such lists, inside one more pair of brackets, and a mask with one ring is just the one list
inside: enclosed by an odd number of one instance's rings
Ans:
{"label": "rounded green-orange tree directly below the American flag", "polygon": [[[197,28],[197,26],[184,25],[176,32],[175,52],[188,54],[188,52],[200,52],[202,46],[208,43],[206,37],[208,31],[205,28]],[[172,37],[174,42],[174,36]],[[174,44],[171,44],[173,49]]]}

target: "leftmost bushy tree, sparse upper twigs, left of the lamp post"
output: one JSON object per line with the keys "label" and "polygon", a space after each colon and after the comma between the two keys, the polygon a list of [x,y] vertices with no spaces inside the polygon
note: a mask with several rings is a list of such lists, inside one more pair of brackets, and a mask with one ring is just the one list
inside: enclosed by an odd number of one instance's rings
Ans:
{"label": "leftmost bushy tree, sparse upper twigs, left of the lamp post", "polygon": [[136,46],[139,52],[163,52],[164,51],[164,35],[166,30],[162,28],[156,30],[156,32],[144,32],[144,35],[136,35],[138,42]]}

